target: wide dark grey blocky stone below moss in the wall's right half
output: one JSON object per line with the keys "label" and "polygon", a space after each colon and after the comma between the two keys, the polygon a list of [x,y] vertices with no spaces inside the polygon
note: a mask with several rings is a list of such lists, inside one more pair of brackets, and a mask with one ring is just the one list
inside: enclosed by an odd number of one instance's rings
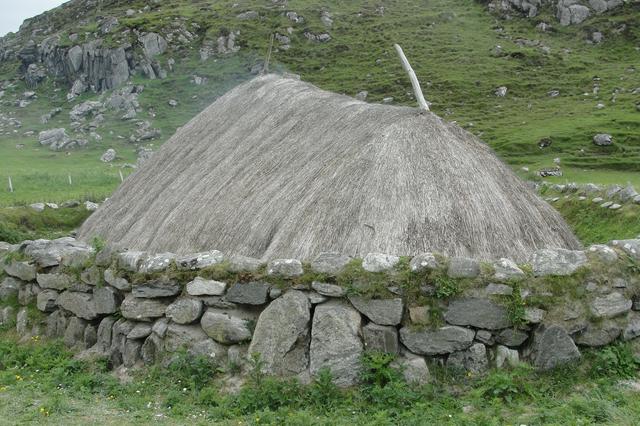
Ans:
{"label": "wide dark grey blocky stone below moss in the wall's right half", "polygon": [[511,325],[507,309],[488,299],[464,298],[452,300],[444,314],[447,323],[499,330]]}

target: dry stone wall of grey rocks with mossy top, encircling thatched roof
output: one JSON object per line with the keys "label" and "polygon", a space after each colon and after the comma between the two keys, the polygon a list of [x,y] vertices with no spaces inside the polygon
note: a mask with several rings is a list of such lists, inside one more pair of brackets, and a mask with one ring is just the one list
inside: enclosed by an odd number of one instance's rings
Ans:
{"label": "dry stone wall of grey rocks with mossy top, encircling thatched roof", "polygon": [[584,347],[640,336],[640,239],[545,249],[529,264],[324,253],[262,265],[219,251],[176,256],[96,250],[72,238],[0,243],[0,322],[23,339],[60,338],[115,368],[185,348],[246,372],[358,381],[365,351],[397,356],[410,381],[428,366],[546,370]]}

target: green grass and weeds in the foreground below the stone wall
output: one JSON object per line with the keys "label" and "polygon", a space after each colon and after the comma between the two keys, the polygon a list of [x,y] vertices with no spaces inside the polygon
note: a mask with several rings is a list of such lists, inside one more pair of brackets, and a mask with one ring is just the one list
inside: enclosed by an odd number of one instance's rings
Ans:
{"label": "green grass and weeds in the foreground below the stone wall", "polygon": [[[221,425],[502,425],[635,424],[637,380],[631,345],[587,352],[584,361],[551,373],[521,366],[458,375],[435,365],[432,381],[408,385],[392,357],[367,354],[363,383],[338,389],[323,372],[309,385],[252,373],[228,394],[228,366],[179,353],[119,381],[102,361],[74,359],[57,341],[0,339],[2,424]],[[10,420],[9,420],[10,419]]]}

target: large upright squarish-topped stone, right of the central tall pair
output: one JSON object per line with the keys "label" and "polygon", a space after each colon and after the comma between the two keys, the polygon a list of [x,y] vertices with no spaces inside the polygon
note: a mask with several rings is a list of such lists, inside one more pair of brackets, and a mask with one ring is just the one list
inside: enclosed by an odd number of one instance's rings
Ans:
{"label": "large upright squarish-topped stone, right of the central tall pair", "polygon": [[309,371],[312,376],[327,368],[338,386],[352,386],[360,375],[361,317],[346,303],[331,300],[316,307],[311,327]]}

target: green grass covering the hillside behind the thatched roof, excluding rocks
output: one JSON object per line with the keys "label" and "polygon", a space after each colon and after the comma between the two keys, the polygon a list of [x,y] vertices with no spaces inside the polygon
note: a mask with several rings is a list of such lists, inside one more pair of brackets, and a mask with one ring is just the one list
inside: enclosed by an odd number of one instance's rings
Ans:
{"label": "green grass covering the hillside behind the thatched roof, excluding rocks", "polygon": [[[233,3],[237,6],[232,7]],[[193,46],[170,49],[160,58],[163,64],[169,58],[177,62],[168,78],[135,78],[136,83],[145,85],[138,117],[162,131],[153,148],[221,93],[250,78],[249,69],[264,56],[271,33],[285,34],[288,27],[294,27],[291,48],[274,51],[272,69],[298,73],[322,88],[348,95],[366,90],[373,102],[393,97],[395,103],[412,104],[410,84],[392,49],[398,42],[423,82],[432,109],[478,135],[515,170],[549,167],[558,157],[565,176],[555,181],[631,182],[640,187],[640,112],[635,107],[640,95],[632,94],[640,87],[640,72],[633,60],[640,40],[636,25],[640,5],[625,5],[614,15],[597,16],[581,26],[554,24],[551,31],[542,33],[535,29],[537,22],[555,23],[548,12],[533,20],[502,21],[484,5],[470,0],[395,0],[386,2],[380,15],[378,3],[292,0],[288,10],[304,16],[303,25],[293,24],[282,10],[258,1],[179,0],[171,2],[171,7],[161,5],[126,18],[125,9],[143,6],[133,1],[101,14],[118,14],[121,26],[140,30],[162,30],[178,15],[198,25]],[[238,20],[236,15],[244,10],[256,10],[261,18]],[[332,12],[332,28],[321,23],[321,10]],[[78,28],[75,20],[62,12],[57,22],[65,34],[95,27]],[[616,33],[622,25],[626,30]],[[586,43],[595,28],[605,34],[605,41]],[[200,43],[215,40],[229,29],[240,31],[241,53],[200,61]],[[305,30],[328,31],[332,40],[310,42],[303,36]],[[107,42],[117,44],[110,37]],[[0,66],[0,80],[15,77],[16,68],[14,63]],[[194,74],[209,81],[196,86],[190,82]],[[594,94],[594,84],[599,87],[598,94]],[[494,90],[502,85],[509,88],[508,94],[496,97]],[[18,81],[7,89],[5,99],[25,89]],[[40,148],[35,136],[23,136],[29,130],[68,127],[73,104],[66,101],[66,90],[48,81],[38,87],[39,99],[27,108],[16,108],[9,102],[0,105],[0,112],[23,123],[16,133],[0,136],[0,205],[102,198],[117,187],[118,167],[134,162],[135,146],[127,139],[135,123],[123,122],[115,113],[106,113],[105,124],[98,129],[102,141],[68,155]],[[549,96],[551,90],[560,95]],[[94,97],[85,94],[78,102]],[[169,107],[169,99],[176,99],[178,107]],[[605,107],[597,109],[598,103]],[[41,124],[40,115],[53,107],[62,108],[62,112],[49,124]],[[593,135],[601,132],[614,136],[613,146],[600,148],[591,143]],[[537,142],[543,137],[553,143],[541,150]],[[18,150],[17,144],[25,147]],[[118,151],[113,166],[99,161],[107,148]],[[131,169],[122,171],[126,175]],[[14,193],[7,191],[9,176]]]}

